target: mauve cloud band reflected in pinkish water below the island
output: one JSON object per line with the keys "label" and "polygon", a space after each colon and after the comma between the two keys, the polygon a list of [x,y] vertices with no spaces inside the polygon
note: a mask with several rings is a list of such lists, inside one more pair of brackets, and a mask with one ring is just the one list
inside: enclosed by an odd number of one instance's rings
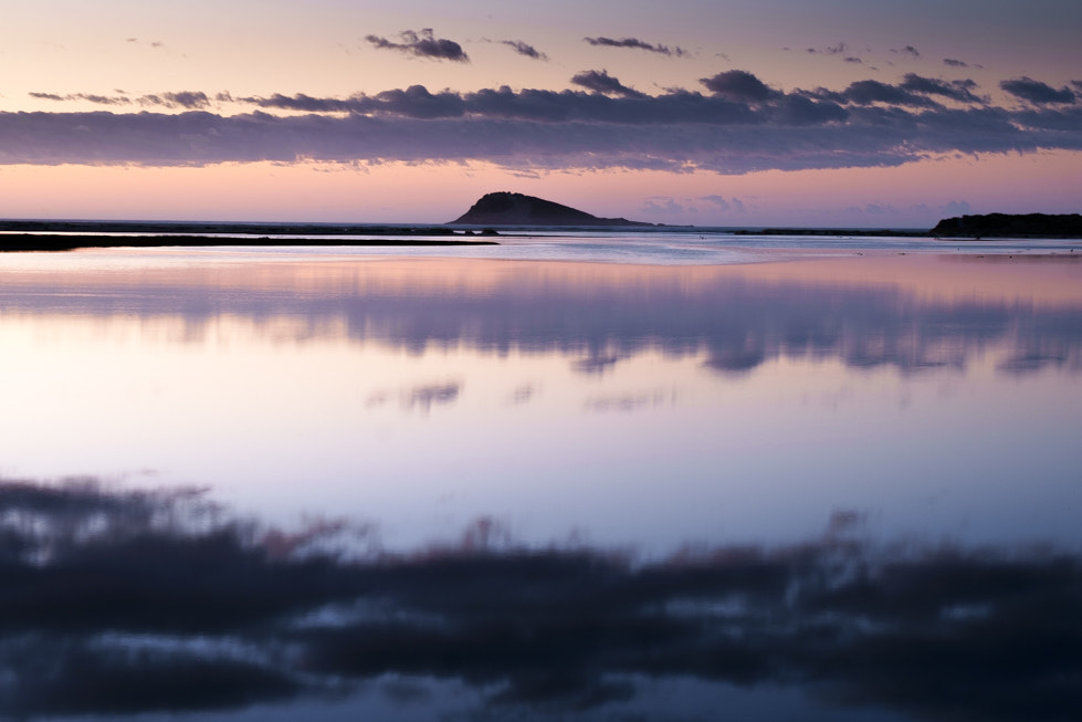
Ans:
{"label": "mauve cloud band reflected in pinkish water below the island", "polygon": [[[455,346],[558,352],[577,357],[574,368],[585,374],[603,374],[647,349],[705,354],[706,367],[735,374],[779,357],[837,357],[857,368],[918,373],[964,368],[991,345],[1002,348],[998,368],[1005,374],[1082,370],[1082,294],[1061,290],[1053,303],[1034,303],[1046,291],[1044,279],[1032,275],[1040,271],[1032,259],[1010,269],[1016,283],[1033,279],[1026,293],[960,297],[942,291],[964,287],[970,279],[987,287],[1002,261],[955,260],[939,269],[925,262],[913,275],[938,284],[932,295],[907,289],[901,275],[890,282],[863,281],[859,271],[841,278],[829,263],[818,274],[815,263],[805,264],[812,271],[795,278],[759,278],[739,266],[639,269],[620,276],[611,266],[584,271],[574,264],[560,270],[476,261],[473,268],[484,270],[471,278],[448,260],[412,263],[406,270],[380,262],[316,263],[297,274],[302,281],[273,265],[244,275],[225,269],[149,273],[135,281],[67,274],[55,283],[34,280],[30,294],[14,278],[0,290],[0,306],[8,313],[172,318],[183,324],[174,336],[191,342],[204,338],[212,320],[230,314],[275,321],[273,333],[287,343],[344,332],[412,354]],[[875,261],[866,263],[874,274]],[[1069,260],[1058,263],[1071,266]],[[936,280],[942,266],[953,266],[954,275]],[[284,320],[293,323],[283,326]]]}

